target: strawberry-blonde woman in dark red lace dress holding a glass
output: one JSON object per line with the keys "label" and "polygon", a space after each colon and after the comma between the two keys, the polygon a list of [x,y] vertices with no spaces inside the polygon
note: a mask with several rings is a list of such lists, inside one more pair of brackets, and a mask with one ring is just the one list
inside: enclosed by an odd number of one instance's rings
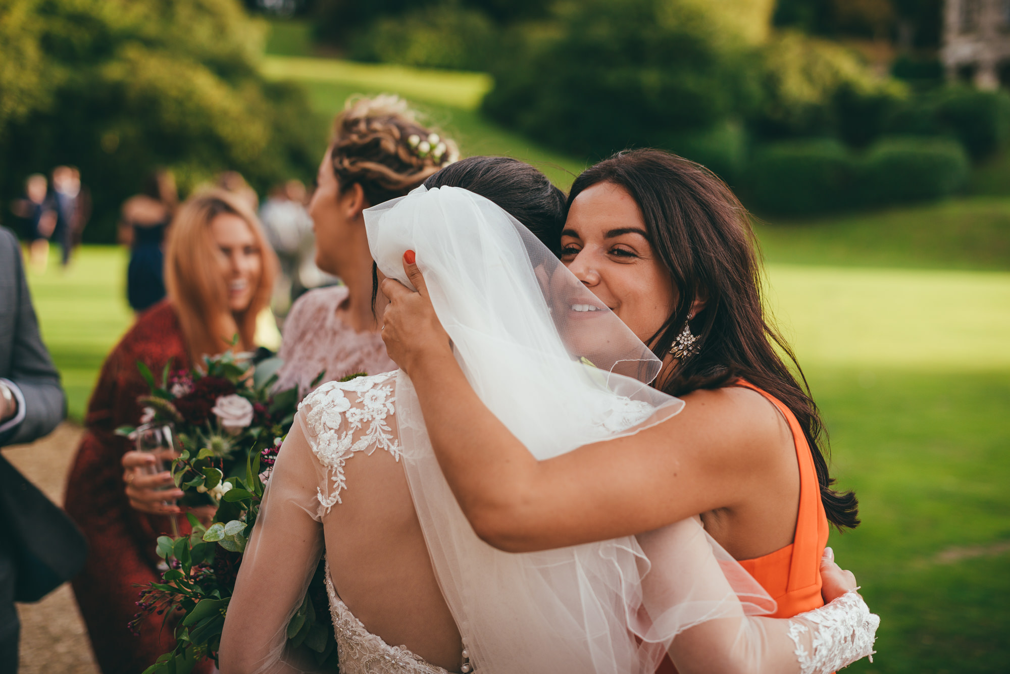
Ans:
{"label": "strawberry-blonde woman in dark red lace dress holding a glass", "polygon": [[[222,190],[190,198],[169,229],[168,298],[137,317],[102,366],[68,480],[67,511],[91,547],[74,593],[104,674],[142,672],[174,647],[172,627],[162,629],[161,616],[147,616],[139,637],[127,628],[136,613],[135,584],[161,577],[156,539],[180,512],[164,501],[182,495],[168,472],[141,474],[154,457],[129,451],[129,441],[115,435],[119,426],[138,423],[137,396],[149,391],[136,363],[154,372],[169,361],[173,369],[189,368],[204,354],[231,348],[232,335],[237,350],[254,350],[256,318],[270,302],[276,268],[260,223],[241,200]],[[179,524],[189,530],[184,519]]]}

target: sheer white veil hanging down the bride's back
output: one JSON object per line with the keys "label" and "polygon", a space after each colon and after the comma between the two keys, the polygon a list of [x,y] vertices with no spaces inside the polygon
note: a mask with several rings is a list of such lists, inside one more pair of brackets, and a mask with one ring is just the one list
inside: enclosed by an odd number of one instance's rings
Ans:
{"label": "sheer white veil hanging down the bride's back", "polygon": [[[648,386],[661,366],[651,351],[491,201],[460,188],[422,187],[366,210],[365,221],[385,275],[409,287],[401,259],[416,251],[470,383],[537,459],[635,433],[683,408]],[[687,628],[774,610],[694,520],[536,553],[496,550],[477,537],[452,496],[403,372],[397,420],[432,565],[481,674],[651,673]],[[718,565],[685,561],[682,553],[698,545]],[[705,585],[712,568],[725,592]]]}

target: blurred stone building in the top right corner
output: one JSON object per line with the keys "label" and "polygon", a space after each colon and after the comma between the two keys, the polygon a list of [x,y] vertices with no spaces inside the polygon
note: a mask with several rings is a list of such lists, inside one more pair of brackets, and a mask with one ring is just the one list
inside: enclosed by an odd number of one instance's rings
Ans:
{"label": "blurred stone building in the top right corner", "polygon": [[943,48],[947,80],[996,89],[1010,74],[1010,0],[946,0]]}

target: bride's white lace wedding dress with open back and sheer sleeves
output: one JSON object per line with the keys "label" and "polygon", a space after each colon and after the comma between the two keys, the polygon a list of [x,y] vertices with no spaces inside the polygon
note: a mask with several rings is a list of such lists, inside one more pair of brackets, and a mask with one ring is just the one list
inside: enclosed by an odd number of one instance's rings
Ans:
{"label": "bride's white lace wedding dress with open back and sheer sleeves", "polygon": [[[303,519],[312,521],[322,530],[318,534],[327,539],[325,545],[331,545],[329,539],[332,538],[332,543],[338,547],[343,537],[339,531],[331,534],[332,528],[326,523],[339,513],[343,502],[368,497],[371,492],[373,498],[370,500],[374,499],[373,505],[378,507],[390,495],[376,492],[376,484],[356,483],[347,474],[356,462],[364,464],[380,456],[391,458],[397,464],[402,462],[396,424],[396,391],[397,373],[388,372],[346,382],[330,381],[303,401],[295,428],[271,476],[264,515],[249,542],[228,610],[221,647],[221,670],[225,674],[231,671],[312,670],[310,666],[299,664],[297,656],[286,655],[284,642],[287,622],[301,603],[299,592],[304,592],[311,577],[322,542],[302,539],[299,545],[292,545],[288,534],[298,523],[292,519],[276,519],[274,504],[281,498],[297,503],[295,513],[302,513]],[[384,533],[373,534],[381,537]],[[645,548],[648,547],[646,541]],[[299,558],[308,563],[299,563]],[[702,561],[716,564],[714,558],[707,559],[704,555]],[[300,577],[298,569],[301,569]],[[716,571],[722,573],[718,565]],[[264,585],[277,586],[284,582],[294,588],[289,592],[287,605],[270,606],[257,599],[262,596]],[[430,664],[403,644],[387,643],[371,632],[341,600],[329,569],[326,588],[342,674],[445,674],[471,672],[475,667],[481,671],[477,667],[479,663],[471,663],[466,657],[469,653],[462,647],[459,664],[446,669]],[[416,597],[405,596],[404,599],[416,600]],[[246,601],[254,602],[249,606],[252,612],[245,616],[246,620],[236,621]],[[366,612],[371,610],[366,606]],[[723,625],[697,637],[692,631],[684,633],[683,647],[678,644],[681,639],[675,640],[671,650],[678,656],[679,670],[684,674],[692,671],[826,674],[872,653],[879,624],[879,619],[854,592],[790,620],[739,620],[745,622],[742,630],[732,621],[714,621]],[[740,634],[745,637],[742,646],[737,640]],[[699,645],[699,641],[703,644]],[[712,654],[726,644],[735,644],[733,657],[713,662]],[[699,657],[699,653],[705,656]],[[231,658],[235,654],[241,657],[233,662]],[[691,658],[700,662],[693,664]],[[576,670],[569,671],[576,673]]]}

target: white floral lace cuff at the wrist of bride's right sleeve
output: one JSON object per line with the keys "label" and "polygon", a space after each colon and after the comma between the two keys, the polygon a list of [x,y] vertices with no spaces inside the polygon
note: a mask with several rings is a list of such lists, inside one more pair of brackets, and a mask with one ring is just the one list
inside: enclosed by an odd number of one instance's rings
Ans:
{"label": "white floral lace cuff at the wrist of bride's right sleeve", "polygon": [[[806,623],[818,629],[811,632]],[[790,620],[789,637],[796,645],[800,674],[828,674],[868,656],[873,662],[874,641],[880,624],[880,615],[870,612],[855,590]],[[804,643],[808,632],[811,632],[809,650]]]}

